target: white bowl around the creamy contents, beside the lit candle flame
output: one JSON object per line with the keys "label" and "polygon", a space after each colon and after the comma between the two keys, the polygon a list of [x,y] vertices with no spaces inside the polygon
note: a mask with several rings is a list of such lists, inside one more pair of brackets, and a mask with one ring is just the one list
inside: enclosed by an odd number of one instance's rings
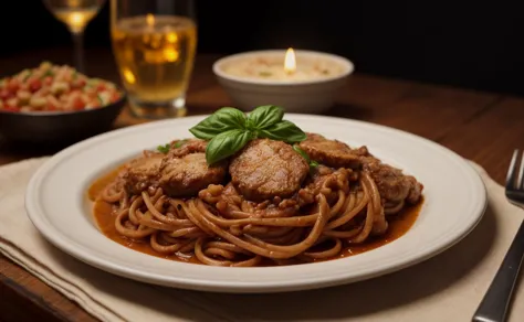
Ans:
{"label": "white bowl around the creamy contents, beside the lit candle flame", "polygon": [[[323,112],[333,106],[335,98],[354,71],[354,64],[344,57],[312,51],[295,51],[297,66],[301,61],[317,60],[337,66],[339,73],[315,79],[265,79],[243,77],[226,72],[228,66],[254,57],[282,58],[283,50],[255,51],[222,57],[213,64],[213,73],[226,89],[234,107],[251,110],[260,105],[279,105],[286,112]],[[283,66],[282,66],[283,68]]]}

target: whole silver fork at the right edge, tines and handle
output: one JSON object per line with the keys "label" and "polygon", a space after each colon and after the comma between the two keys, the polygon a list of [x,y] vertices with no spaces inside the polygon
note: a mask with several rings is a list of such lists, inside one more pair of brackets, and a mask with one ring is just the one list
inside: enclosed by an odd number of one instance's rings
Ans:
{"label": "whole silver fork at the right edge, tines and handle", "polygon": [[[523,154],[524,158],[524,154]],[[507,170],[505,194],[507,201],[524,208],[524,160],[518,161],[518,150],[513,152]],[[520,165],[517,165],[520,163]],[[518,167],[518,174],[517,174]],[[473,315],[474,322],[506,321],[507,308],[512,299],[515,281],[524,255],[524,223],[521,224],[510,250],[504,257],[488,292]]]}

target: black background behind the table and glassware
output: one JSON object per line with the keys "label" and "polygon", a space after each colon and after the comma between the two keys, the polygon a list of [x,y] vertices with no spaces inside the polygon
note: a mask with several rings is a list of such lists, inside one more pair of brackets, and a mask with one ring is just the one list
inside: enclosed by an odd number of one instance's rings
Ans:
{"label": "black background behind the table and glassware", "polygon": [[[109,49],[108,9],[87,26],[86,47]],[[199,53],[293,46],[344,55],[358,73],[524,95],[522,1],[201,0],[196,9]],[[0,30],[1,57],[71,45],[40,0],[3,0]]]}

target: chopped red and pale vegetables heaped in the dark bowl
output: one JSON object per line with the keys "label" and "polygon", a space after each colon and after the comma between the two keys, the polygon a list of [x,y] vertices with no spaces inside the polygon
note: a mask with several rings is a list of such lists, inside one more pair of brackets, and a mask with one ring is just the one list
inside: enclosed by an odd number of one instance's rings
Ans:
{"label": "chopped red and pale vegetables heaped in the dark bowl", "polygon": [[74,111],[107,106],[122,98],[109,82],[90,78],[67,65],[43,62],[0,79],[0,111]]}

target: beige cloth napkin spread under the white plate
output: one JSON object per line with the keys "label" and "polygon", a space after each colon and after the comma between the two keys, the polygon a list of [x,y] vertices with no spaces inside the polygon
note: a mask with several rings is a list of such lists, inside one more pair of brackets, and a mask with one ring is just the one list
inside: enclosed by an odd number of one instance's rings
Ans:
{"label": "beige cloth napkin spread under the white plate", "polygon": [[[0,251],[103,321],[471,321],[523,218],[502,186],[474,165],[489,192],[482,222],[457,246],[422,264],[314,291],[185,291],[106,273],[48,244],[23,207],[25,185],[45,160],[0,167]],[[510,314],[510,321],[524,321],[522,282]]]}

